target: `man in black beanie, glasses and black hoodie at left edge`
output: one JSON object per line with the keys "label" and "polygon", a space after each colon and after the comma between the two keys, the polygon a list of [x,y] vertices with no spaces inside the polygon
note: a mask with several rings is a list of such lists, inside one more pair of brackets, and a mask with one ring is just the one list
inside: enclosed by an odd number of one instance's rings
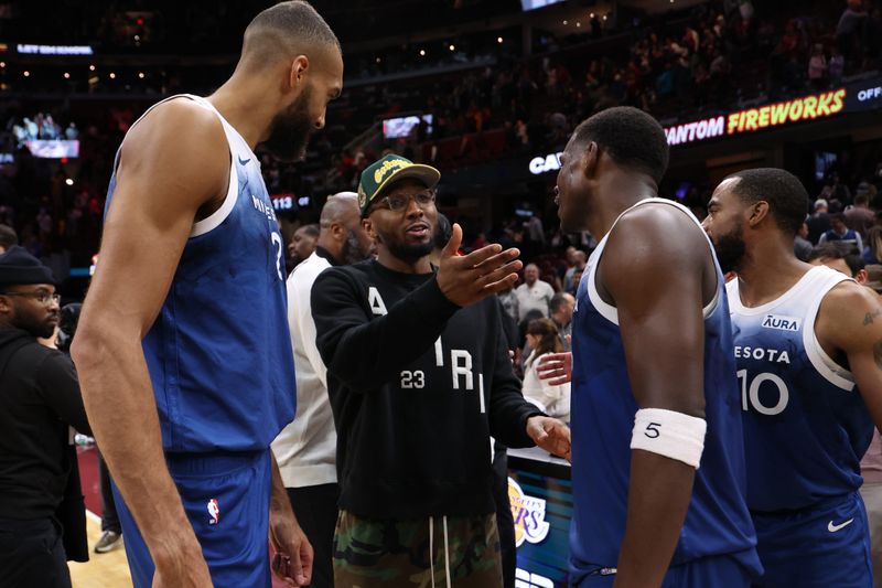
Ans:
{"label": "man in black beanie, glasses and black hoodie at left edge", "polygon": [[85,542],[69,528],[84,524],[62,521],[85,516],[79,489],[67,489],[71,427],[92,430],[74,364],[36,341],[58,324],[54,281],[21,247],[0,255],[0,586],[10,588],[69,587],[65,545]]}

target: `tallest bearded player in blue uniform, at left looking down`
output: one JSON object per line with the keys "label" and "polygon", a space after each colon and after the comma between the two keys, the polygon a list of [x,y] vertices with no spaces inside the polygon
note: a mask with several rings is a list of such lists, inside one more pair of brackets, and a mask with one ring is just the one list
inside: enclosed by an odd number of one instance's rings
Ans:
{"label": "tallest bearded player in blue uniform, at left looking down", "polygon": [[136,587],[289,584],[312,550],[269,445],[294,416],[283,243],[254,153],[301,158],[342,88],[305,2],[258,14],[233,76],[126,136],[73,353]]}

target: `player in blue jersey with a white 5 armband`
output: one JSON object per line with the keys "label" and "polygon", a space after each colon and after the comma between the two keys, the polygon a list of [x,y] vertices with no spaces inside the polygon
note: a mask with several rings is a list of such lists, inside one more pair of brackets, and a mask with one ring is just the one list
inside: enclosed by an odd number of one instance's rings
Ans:
{"label": "player in blue jersey with a white 5 armband", "polygon": [[667,162],[662,127],[627,107],[582,122],[561,157],[561,228],[601,239],[572,320],[577,587],[760,573],[723,278],[695,216],[656,197]]}

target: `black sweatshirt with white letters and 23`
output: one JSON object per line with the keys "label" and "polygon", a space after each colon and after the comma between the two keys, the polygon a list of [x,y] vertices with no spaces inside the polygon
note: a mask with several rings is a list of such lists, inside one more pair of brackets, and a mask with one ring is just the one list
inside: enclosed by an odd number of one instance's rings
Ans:
{"label": "black sweatshirt with white letters and 23", "polygon": [[529,447],[541,415],[520,393],[491,297],[460,308],[434,274],[369,260],[312,288],[337,428],[340,506],[362,517],[495,512],[491,435]]}

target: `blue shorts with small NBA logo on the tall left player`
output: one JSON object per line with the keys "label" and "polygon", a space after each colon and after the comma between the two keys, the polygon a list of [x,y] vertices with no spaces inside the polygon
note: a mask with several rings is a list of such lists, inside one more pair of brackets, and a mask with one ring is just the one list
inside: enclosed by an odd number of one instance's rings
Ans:
{"label": "blue shorts with small NBA logo on the tall left player", "polygon": [[[190,524],[217,588],[271,586],[269,500],[271,460],[265,451],[166,456]],[[149,474],[149,473],[148,473]],[[135,588],[150,588],[153,560],[119,490],[114,499],[122,524]]]}

